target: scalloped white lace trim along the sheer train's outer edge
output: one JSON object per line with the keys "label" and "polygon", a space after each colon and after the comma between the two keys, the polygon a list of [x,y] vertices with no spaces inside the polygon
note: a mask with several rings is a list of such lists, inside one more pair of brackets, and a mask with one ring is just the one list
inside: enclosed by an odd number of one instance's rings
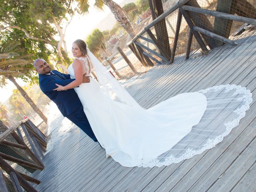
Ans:
{"label": "scalloped white lace trim along the sheer train's outer edge", "polygon": [[141,166],[143,166],[143,167],[168,166],[172,163],[178,163],[178,162],[181,162],[182,160],[191,158],[194,155],[201,154],[205,150],[213,148],[216,144],[221,142],[223,140],[224,136],[227,136],[230,133],[232,128],[238,126],[240,119],[245,116],[246,110],[249,109],[249,107],[250,107],[249,105],[252,102],[252,94],[250,93],[250,90],[246,90],[245,87],[237,86],[237,85],[227,84],[227,85],[213,86],[213,87],[207,88],[205,90],[200,90],[199,93],[206,94],[209,92],[216,92],[216,91],[224,89],[224,88],[225,88],[224,92],[229,92],[233,89],[236,89],[235,93],[233,94],[234,96],[236,94],[244,94],[244,95],[238,99],[243,102],[242,106],[240,106],[239,108],[237,108],[236,110],[233,111],[236,114],[238,114],[238,117],[234,120],[224,123],[224,126],[226,127],[226,131],[223,134],[217,136],[214,139],[208,139],[207,143],[202,148],[200,148],[198,150],[192,150],[192,149],[188,148],[186,150],[186,152],[178,158],[174,157],[173,155],[170,155],[169,157],[166,157],[164,161],[160,162],[160,160],[158,160],[156,158],[149,162],[142,162],[142,163],[138,162],[137,166],[138,167],[141,167]]}

